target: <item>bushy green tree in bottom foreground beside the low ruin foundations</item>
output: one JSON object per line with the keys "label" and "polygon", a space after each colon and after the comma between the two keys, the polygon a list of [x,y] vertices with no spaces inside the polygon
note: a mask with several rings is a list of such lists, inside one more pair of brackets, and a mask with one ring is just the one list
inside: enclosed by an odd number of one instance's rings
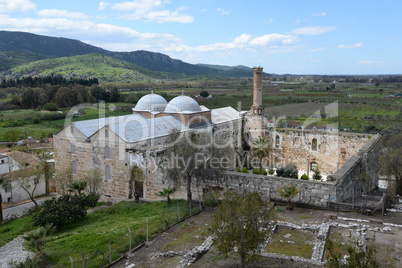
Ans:
{"label": "bushy green tree in bottom foreground beside the low ruin foundations", "polygon": [[255,262],[272,230],[272,208],[257,192],[247,193],[245,198],[227,192],[211,223],[218,250],[227,254],[237,248],[243,268]]}

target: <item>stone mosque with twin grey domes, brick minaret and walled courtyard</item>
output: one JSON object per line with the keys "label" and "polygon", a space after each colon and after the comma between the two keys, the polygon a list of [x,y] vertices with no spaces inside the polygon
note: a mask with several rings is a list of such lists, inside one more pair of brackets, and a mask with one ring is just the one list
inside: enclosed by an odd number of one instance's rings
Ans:
{"label": "stone mosque with twin grey domes, brick minaret and walled courtyard", "polygon": [[[151,93],[137,102],[131,115],[69,123],[53,136],[56,174],[72,174],[59,181],[57,191],[63,193],[71,180],[98,169],[103,196],[124,200],[137,194],[157,199],[158,191],[172,185],[160,163],[175,132],[206,133],[210,142],[226,144],[228,150],[220,157],[228,159],[229,171],[249,163],[250,141],[264,137],[271,142],[266,167],[292,162],[299,175],[306,173],[310,178],[318,168],[324,178],[333,175],[371,138],[369,134],[271,128],[262,106],[262,67],[253,71],[253,106],[248,111],[208,109],[184,95],[167,102]],[[204,151],[214,155],[213,147],[205,146]],[[175,186],[179,186],[177,197],[185,197],[185,183]]]}

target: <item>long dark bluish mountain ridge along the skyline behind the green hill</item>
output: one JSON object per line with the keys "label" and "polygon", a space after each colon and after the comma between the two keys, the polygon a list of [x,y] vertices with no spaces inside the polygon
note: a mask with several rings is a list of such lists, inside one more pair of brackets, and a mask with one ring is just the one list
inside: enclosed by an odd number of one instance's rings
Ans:
{"label": "long dark bluish mountain ridge along the skyline behind the green hill", "polygon": [[[189,64],[172,59],[161,53],[149,51],[113,52],[95,47],[79,40],[49,37],[26,32],[0,31],[0,52],[20,51],[41,54],[47,57],[71,57],[90,53],[102,54],[134,63],[155,72],[170,72],[184,75],[212,75],[223,77],[250,77],[247,67],[217,69],[208,65]],[[0,62],[0,70],[6,68]],[[217,70],[219,70],[217,72]]]}

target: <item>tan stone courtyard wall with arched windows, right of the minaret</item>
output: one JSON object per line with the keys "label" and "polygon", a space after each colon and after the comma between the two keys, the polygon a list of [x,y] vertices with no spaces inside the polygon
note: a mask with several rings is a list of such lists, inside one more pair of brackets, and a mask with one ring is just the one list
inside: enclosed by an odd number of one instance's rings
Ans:
{"label": "tan stone courtyard wall with arched windows, right of the minaret", "polygon": [[[276,129],[270,132],[270,165],[295,163],[299,177],[312,177],[316,163],[324,178],[334,174],[370,140],[370,134],[331,131]],[[313,143],[316,142],[316,147]]]}

